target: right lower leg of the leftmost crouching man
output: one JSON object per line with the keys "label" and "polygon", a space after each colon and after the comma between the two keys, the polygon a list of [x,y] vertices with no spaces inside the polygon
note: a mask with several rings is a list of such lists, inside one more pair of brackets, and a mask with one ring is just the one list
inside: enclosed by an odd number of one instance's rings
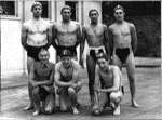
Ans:
{"label": "right lower leg of the leftmost crouching man", "polygon": [[44,111],[45,114],[52,114],[55,108],[55,96],[54,94],[49,94],[45,98]]}

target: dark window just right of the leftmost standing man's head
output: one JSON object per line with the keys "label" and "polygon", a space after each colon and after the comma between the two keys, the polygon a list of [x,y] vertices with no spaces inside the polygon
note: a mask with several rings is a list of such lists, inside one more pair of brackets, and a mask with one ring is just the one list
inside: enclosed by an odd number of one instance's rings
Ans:
{"label": "dark window just right of the leftmost standing man's head", "polygon": [[43,11],[42,11],[42,17],[43,18],[50,18],[50,1],[39,1],[42,6],[43,6]]}

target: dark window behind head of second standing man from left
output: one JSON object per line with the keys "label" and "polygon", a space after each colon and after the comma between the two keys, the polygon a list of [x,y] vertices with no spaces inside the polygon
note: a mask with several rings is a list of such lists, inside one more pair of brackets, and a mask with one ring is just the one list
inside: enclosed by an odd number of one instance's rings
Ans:
{"label": "dark window behind head of second standing man from left", "polygon": [[66,1],[65,4],[69,5],[71,8],[71,19],[72,21],[78,21],[78,5],[77,1]]}

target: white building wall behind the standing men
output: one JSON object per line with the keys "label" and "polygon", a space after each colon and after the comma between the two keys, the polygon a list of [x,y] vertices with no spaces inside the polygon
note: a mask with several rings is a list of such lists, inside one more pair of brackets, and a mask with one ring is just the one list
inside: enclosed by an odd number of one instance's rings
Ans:
{"label": "white building wall behind the standing men", "polygon": [[[18,18],[2,18],[1,21],[1,77],[21,75],[27,72],[27,55],[21,44],[22,22],[32,17],[31,5],[33,1],[18,1]],[[51,1],[51,21],[62,21],[60,10],[65,5],[64,0]],[[102,22],[102,2],[100,1],[78,1],[79,23],[86,25],[90,23],[89,11],[97,9],[99,12],[99,22]],[[24,12],[24,13],[23,13]],[[85,52],[87,44],[85,45]],[[79,48],[78,48],[79,53]],[[50,61],[55,63],[55,50],[50,48]],[[78,54],[79,57],[79,54]],[[85,62],[85,61],[84,61]]]}

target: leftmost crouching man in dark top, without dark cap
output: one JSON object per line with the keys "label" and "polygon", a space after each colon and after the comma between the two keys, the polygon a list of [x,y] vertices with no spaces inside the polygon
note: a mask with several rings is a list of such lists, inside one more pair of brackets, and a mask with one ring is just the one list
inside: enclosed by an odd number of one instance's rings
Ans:
{"label": "leftmost crouching man in dark top, without dark cap", "polygon": [[40,112],[52,114],[55,107],[54,64],[49,62],[49,51],[39,52],[39,62],[31,65],[29,84],[35,105],[33,116]]}

